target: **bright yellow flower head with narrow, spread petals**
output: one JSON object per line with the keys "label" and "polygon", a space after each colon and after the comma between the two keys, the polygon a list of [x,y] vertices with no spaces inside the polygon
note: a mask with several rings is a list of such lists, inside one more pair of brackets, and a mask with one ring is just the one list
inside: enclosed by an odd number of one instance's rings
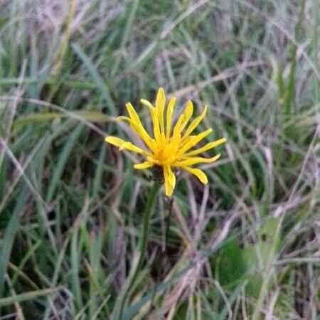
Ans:
{"label": "bright yellow flower head with narrow, spread petals", "polygon": [[212,129],[207,129],[199,134],[192,135],[194,129],[196,129],[203,117],[205,117],[207,107],[205,107],[203,112],[187,126],[193,114],[193,104],[191,101],[188,101],[185,110],[180,114],[176,124],[173,129],[171,129],[176,97],[171,97],[169,100],[169,104],[166,107],[165,119],[164,111],[166,97],[164,95],[164,90],[161,87],[156,95],[155,107],[147,100],[142,99],[140,101],[149,108],[153,134],[146,132],[139,115],[134,110],[131,103],[127,103],[126,105],[129,117],[121,116],[117,117],[117,119],[127,121],[130,124],[132,130],[141,137],[146,149],[134,146],[131,142],[126,142],[117,137],[108,136],[105,138],[105,141],[114,146],[118,146],[119,150],[127,149],[129,151],[134,151],[137,154],[142,154],[145,157],[145,161],[141,164],[135,164],[135,169],[146,169],[151,166],[161,167],[164,172],[164,188],[166,196],[171,196],[176,185],[176,176],[174,175],[172,168],[184,169],[197,176],[202,183],[208,183],[206,174],[204,174],[201,169],[196,169],[192,166],[194,164],[209,163],[217,160],[220,157],[220,154],[217,154],[212,158],[202,158],[198,156],[198,154],[201,154],[203,151],[208,151],[219,144],[223,144],[226,139],[218,139],[205,144],[199,149],[190,151],[193,146],[198,144],[198,142],[201,142],[202,139],[212,132]]}

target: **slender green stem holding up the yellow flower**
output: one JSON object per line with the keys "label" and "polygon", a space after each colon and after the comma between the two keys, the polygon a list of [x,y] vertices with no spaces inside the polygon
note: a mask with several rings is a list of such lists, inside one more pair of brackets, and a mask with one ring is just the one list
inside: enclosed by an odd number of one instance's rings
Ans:
{"label": "slender green stem holding up the yellow flower", "polygon": [[142,267],[142,262],[144,261],[144,255],[146,253],[146,245],[148,244],[148,234],[149,234],[149,224],[150,224],[150,215],[154,205],[154,200],[156,199],[156,193],[158,193],[161,184],[157,181],[154,182],[151,190],[149,192],[148,199],[146,200],[146,206],[144,207],[144,215],[142,217],[142,234],[139,240],[139,260],[137,265],[132,270],[132,275],[129,276],[127,284],[125,284],[124,289],[122,289],[121,297],[119,298],[119,318],[122,319],[123,308],[126,300],[129,298],[126,294],[129,292],[129,289],[134,286],[134,283],[137,280],[140,268]]}

